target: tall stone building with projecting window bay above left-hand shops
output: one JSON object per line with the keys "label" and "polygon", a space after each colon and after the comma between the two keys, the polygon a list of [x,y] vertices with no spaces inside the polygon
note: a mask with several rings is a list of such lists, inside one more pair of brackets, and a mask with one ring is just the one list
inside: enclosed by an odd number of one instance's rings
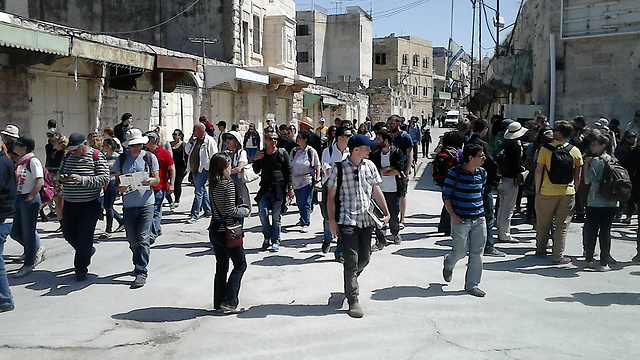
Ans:
{"label": "tall stone building with projecting window bay above left-hand shops", "polygon": [[[206,64],[202,69],[205,74],[202,88],[192,84],[180,84],[178,88],[199,98],[192,107],[201,108],[202,115],[212,122],[254,122],[260,127],[271,117],[288,123],[301,112],[293,107],[293,94],[313,83],[296,72],[293,0],[118,1],[117,4],[91,0],[6,0],[5,9],[185,53],[202,56],[204,50],[207,58],[233,65],[229,68],[226,64]],[[171,21],[167,22],[168,19]],[[206,42],[192,42],[192,38]],[[183,85],[188,88],[183,89]]]}

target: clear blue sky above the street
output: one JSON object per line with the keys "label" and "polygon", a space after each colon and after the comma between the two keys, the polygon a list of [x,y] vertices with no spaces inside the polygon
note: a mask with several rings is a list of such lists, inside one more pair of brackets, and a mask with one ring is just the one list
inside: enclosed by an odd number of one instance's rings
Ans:
{"label": "clear blue sky above the street", "polygon": [[[385,37],[391,33],[397,36],[416,36],[430,40],[433,46],[447,46],[451,31],[451,4],[453,1],[453,39],[470,54],[473,8],[471,0],[314,0],[316,6],[327,9],[329,14],[344,13],[347,6],[360,6],[373,13],[373,37]],[[516,18],[521,0],[486,0],[487,15],[491,34],[495,36],[492,18],[499,1],[500,16],[504,17],[505,27]],[[312,0],[296,0],[298,10],[311,8]],[[479,7],[479,6],[478,6]],[[403,11],[404,10],[404,11]],[[482,14],[482,53],[492,56],[495,42],[487,29]],[[478,21],[476,15],[476,22]],[[477,32],[477,26],[476,26]],[[509,29],[500,32],[501,41]],[[478,36],[475,36],[475,53],[478,51]],[[477,57],[477,55],[476,55]]]}

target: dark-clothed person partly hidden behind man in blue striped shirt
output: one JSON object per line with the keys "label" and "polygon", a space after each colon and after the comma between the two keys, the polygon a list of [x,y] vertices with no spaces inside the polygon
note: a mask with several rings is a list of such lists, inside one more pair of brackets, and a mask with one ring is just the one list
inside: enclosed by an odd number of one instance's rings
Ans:
{"label": "dark-clothed person partly hidden behind man in blue striped shirt", "polygon": [[492,190],[498,187],[500,183],[500,174],[498,174],[498,164],[493,160],[493,157],[490,155],[489,144],[482,140],[483,137],[487,136],[487,132],[489,131],[489,124],[485,119],[477,119],[473,124],[473,135],[467,141],[467,144],[477,144],[482,146],[484,149],[485,160],[482,164],[482,168],[487,172],[487,184],[484,188],[484,193],[482,195],[483,205],[484,205],[484,218],[487,223],[487,242],[484,246],[484,254],[486,256],[499,256],[503,257],[506,254],[494,247],[496,240],[493,238],[493,223],[495,220],[495,215],[493,213],[493,192]]}

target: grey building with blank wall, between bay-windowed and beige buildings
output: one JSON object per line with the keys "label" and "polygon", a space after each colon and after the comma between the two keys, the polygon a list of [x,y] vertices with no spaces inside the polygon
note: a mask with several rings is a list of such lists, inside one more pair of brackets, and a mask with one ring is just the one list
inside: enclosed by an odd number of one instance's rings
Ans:
{"label": "grey building with blank wall, between bay-windowed and beige buildings", "polygon": [[358,6],[344,14],[327,15],[314,7],[298,11],[298,72],[328,85],[348,82],[351,89],[367,88],[372,76],[373,22]]}

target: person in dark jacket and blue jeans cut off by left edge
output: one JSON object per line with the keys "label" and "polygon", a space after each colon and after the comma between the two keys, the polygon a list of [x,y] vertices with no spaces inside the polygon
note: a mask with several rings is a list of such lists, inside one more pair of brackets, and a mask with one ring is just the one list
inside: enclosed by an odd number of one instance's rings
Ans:
{"label": "person in dark jacket and blue jeans cut off by left edge", "polygon": [[7,235],[11,233],[13,208],[16,203],[16,174],[13,161],[6,156],[0,147],[0,312],[14,308],[13,297],[9,289],[9,279],[4,267],[2,252]]}

